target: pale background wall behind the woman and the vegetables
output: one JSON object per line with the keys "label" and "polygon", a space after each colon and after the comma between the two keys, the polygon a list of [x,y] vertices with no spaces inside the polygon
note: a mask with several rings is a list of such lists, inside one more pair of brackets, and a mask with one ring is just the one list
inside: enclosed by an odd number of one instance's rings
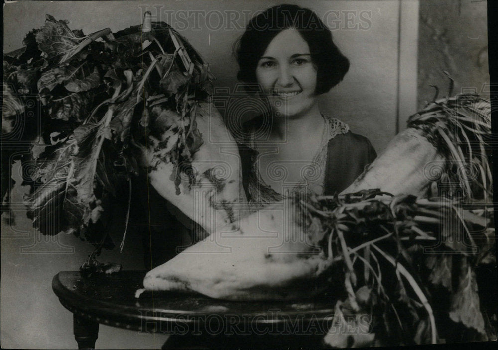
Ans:
{"label": "pale background wall behind the woman and the vegetables", "polygon": [[[4,5],[3,50],[8,52],[21,47],[24,35],[29,30],[43,25],[45,13],[51,14],[56,19],[67,19],[70,28],[81,28],[88,34],[105,27],[117,31],[139,24],[143,12],[150,10],[155,17],[154,20],[166,21],[175,27],[210,63],[212,73],[218,78],[215,86],[232,90],[236,85],[237,73],[237,65],[231,55],[233,42],[242,34],[248,18],[256,11],[282,2],[286,1],[7,3]],[[427,90],[424,90],[427,83],[440,86],[446,84],[445,78],[442,79],[436,73],[429,73],[429,71],[437,72],[437,69],[431,70],[435,63],[443,59],[456,59],[457,55],[466,54],[466,49],[458,48],[463,39],[456,37],[466,34],[471,37],[480,36],[480,42],[485,42],[484,5],[470,4],[471,0],[462,0],[462,8],[467,11],[463,14],[464,23],[470,28],[464,32],[464,26],[461,25],[462,17],[457,18],[455,14],[453,17],[438,17],[443,16],[443,11],[437,7],[437,2],[440,1],[422,0],[421,16],[430,17],[432,26],[440,26],[443,20],[455,23],[451,24],[453,28],[451,31],[447,30],[443,36],[439,35],[441,40],[450,40],[451,43],[448,44],[446,58],[435,56],[439,54],[441,48],[444,49],[442,43],[435,41],[426,45],[426,42],[432,39],[430,34],[427,34],[428,29],[422,26],[421,44],[417,45],[418,1],[292,1],[315,10],[322,18],[329,13],[326,24],[331,28],[338,46],[351,60],[350,72],[345,80],[321,97],[323,112],[342,119],[349,123],[354,132],[369,137],[377,152],[385,147],[397,129],[403,127],[406,117],[416,111],[417,67],[420,105],[427,99],[426,96],[432,96],[432,92],[427,95]],[[454,8],[450,4],[453,1],[444,2],[446,8]],[[330,10],[339,12],[328,12]],[[186,12],[182,12],[184,16],[175,17],[175,13],[179,14],[179,11]],[[218,12],[222,17],[217,14]],[[205,16],[208,13],[211,13],[210,20]],[[239,18],[236,18],[238,15]],[[476,18],[483,16],[484,20],[479,19],[482,20],[482,24],[474,25]],[[221,26],[218,23],[220,18]],[[464,41],[474,43],[470,40]],[[417,47],[423,56],[418,66]],[[486,56],[482,53],[475,55],[481,48],[482,45],[476,44],[472,54],[458,58],[459,64],[475,64],[476,57]],[[457,51],[452,51],[454,49]],[[430,60],[431,57],[434,61]],[[485,72],[487,62],[484,59],[479,62],[482,65],[478,69],[479,72]],[[458,69],[454,71],[461,73],[461,69],[467,67],[462,65],[457,65]],[[475,77],[476,67],[469,69],[474,73],[466,73],[465,77]],[[484,76],[479,76],[472,82],[470,79],[462,80],[475,85],[487,81]],[[20,183],[18,181],[20,171],[14,168],[12,172],[12,178],[17,179],[17,184]],[[16,186],[13,193],[14,202],[20,202],[25,191],[25,188]],[[114,227],[112,235],[116,241],[119,241],[123,232],[123,221],[123,218],[121,221],[117,220],[117,225]],[[15,224],[9,225],[2,220],[1,243],[1,347],[75,348],[72,315],[62,307],[53,294],[51,279],[61,270],[78,269],[92,251],[92,247],[71,235],[61,235],[56,238],[41,237],[32,229],[21,206],[16,210]],[[127,270],[143,269],[140,247],[140,238],[131,232],[122,254],[118,249],[105,252],[101,260],[122,263]],[[165,336],[140,335],[101,325],[96,346],[101,349],[157,349],[165,339]]]}

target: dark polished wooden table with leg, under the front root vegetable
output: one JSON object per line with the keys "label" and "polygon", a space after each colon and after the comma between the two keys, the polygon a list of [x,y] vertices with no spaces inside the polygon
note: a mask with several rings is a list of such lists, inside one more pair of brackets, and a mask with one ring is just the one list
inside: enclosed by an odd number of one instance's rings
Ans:
{"label": "dark polished wooden table with leg, under the front root vegetable", "polygon": [[323,346],[334,313],[330,297],[234,302],[147,291],[135,298],[145,273],[83,277],[78,271],[63,271],[54,276],[54,293],[73,313],[79,349],[94,349],[99,324],[172,335],[163,349],[316,348]]}

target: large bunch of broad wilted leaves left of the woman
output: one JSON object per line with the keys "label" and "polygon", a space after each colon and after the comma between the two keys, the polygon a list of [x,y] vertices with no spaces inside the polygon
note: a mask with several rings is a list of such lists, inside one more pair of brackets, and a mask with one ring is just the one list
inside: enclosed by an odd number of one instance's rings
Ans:
{"label": "large bunch of broad wilted leaves left of the woman", "polygon": [[[199,69],[181,70],[175,45],[182,39],[173,43],[165,27],[152,23],[148,32],[133,26],[114,36],[108,29],[85,35],[47,15],[40,29],[26,35],[24,48],[4,55],[3,98],[9,102],[4,117],[25,114],[36,96],[42,106],[41,115],[32,118],[41,130],[26,140],[33,143],[35,168],[27,179],[33,187],[26,203],[43,233],[67,231],[94,244],[106,241],[102,226],[103,232],[89,228],[109,211],[109,196],[120,181],[138,173],[134,157],[144,140],[171,134],[158,147],[167,148],[164,160],[174,164],[175,178],[178,164],[188,163],[202,145],[190,111],[207,74],[200,79]],[[188,44],[182,45],[197,67],[205,67]],[[54,217],[60,226],[49,230]]]}

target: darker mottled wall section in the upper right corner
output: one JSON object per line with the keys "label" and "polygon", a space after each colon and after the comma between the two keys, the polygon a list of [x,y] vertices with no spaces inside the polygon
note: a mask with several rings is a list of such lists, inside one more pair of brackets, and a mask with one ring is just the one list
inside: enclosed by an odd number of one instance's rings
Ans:
{"label": "darker mottled wall section in the upper right corner", "polygon": [[480,92],[489,83],[486,1],[421,0],[418,59],[418,107],[448,94],[447,71],[462,89]]}

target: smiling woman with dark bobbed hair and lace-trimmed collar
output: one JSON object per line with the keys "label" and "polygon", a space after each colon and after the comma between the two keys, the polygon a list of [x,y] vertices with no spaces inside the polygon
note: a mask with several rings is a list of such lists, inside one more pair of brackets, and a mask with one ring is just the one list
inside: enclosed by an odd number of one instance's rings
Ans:
{"label": "smiling woman with dark bobbed hair and lace-trimmed collar", "polygon": [[237,44],[238,79],[271,107],[269,122],[255,117],[238,135],[249,203],[345,189],[376,153],[368,139],[320,112],[317,97],[349,69],[330,30],[309,9],[278,5],[254,17]]}

